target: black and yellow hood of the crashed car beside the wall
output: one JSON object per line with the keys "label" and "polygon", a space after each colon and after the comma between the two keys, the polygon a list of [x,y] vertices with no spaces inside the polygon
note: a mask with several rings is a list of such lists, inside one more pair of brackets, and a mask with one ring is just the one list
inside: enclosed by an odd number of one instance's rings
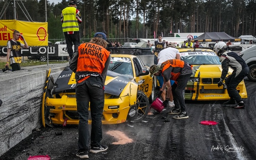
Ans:
{"label": "black and yellow hood of the crashed car beside the wall", "polygon": [[[122,90],[126,87],[126,85],[133,80],[134,78],[127,77],[108,70],[105,81],[104,93],[119,96]],[[72,72],[69,66],[67,66],[56,79],[51,93],[57,94],[63,92],[75,92],[75,86],[75,74]]]}

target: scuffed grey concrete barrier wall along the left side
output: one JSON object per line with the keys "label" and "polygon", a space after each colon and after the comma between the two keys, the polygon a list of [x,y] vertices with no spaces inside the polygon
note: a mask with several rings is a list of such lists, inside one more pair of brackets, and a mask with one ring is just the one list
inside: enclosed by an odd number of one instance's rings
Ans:
{"label": "scuffed grey concrete barrier wall along the left side", "polygon": [[[42,95],[47,70],[56,77],[66,64],[0,73],[0,156],[42,126]],[[55,68],[53,68],[55,67]],[[55,78],[56,79],[56,78]]]}

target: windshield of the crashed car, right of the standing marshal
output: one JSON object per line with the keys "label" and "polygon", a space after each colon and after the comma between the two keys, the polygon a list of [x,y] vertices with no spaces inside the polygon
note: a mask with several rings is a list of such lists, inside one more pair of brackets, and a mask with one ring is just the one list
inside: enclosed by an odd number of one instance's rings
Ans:
{"label": "windshield of the crashed car, right of the standing marshal", "polygon": [[127,57],[111,57],[108,70],[133,77],[131,59]]}

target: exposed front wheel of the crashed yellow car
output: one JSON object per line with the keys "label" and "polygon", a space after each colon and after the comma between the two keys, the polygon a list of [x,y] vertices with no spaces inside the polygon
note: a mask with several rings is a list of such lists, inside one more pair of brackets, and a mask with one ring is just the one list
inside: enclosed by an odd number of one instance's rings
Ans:
{"label": "exposed front wheel of the crashed yellow car", "polygon": [[149,101],[145,93],[137,91],[137,110],[135,119],[131,122],[138,123],[141,122],[148,114],[149,111]]}

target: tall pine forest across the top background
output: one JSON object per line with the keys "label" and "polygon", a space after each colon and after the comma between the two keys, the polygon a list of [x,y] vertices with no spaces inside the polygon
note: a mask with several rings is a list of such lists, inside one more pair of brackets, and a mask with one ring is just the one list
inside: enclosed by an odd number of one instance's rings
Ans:
{"label": "tall pine forest across the top background", "polygon": [[[1,19],[11,20],[13,4],[6,1],[11,4]],[[0,5],[6,1],[0,0]],[[64,38],[61,11],[69,0],[57,4],[46,1],[47,15],[45,0],[22,2],[33,21],[45,22],[47,17],[48,39]],[[19,4],[16,19],[29,21]],[[256,34],[256,0],[77,0],[77,9],[82,15],[80,38],[92,38],[102,30],[108,38],[154,38],[154,32],[168,37],[178,30],[226,32],[234,37]]]}

